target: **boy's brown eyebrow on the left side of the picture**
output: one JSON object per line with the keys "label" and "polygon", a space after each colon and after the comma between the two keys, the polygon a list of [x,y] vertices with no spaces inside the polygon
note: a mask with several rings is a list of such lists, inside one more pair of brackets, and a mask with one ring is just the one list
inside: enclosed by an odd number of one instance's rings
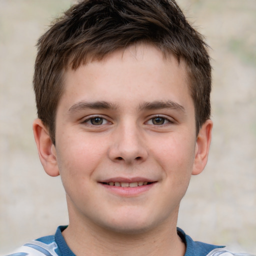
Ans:
{"label": "boy's brown eyebrow on the left side of the picture", "polygon": [[82,111],[86,108],[91,109],[116,109],[117,105],[107,102],[107,101],[80,101],[78,103],[73,104],[69,109],[69,113],[74,113],[78,111]]}

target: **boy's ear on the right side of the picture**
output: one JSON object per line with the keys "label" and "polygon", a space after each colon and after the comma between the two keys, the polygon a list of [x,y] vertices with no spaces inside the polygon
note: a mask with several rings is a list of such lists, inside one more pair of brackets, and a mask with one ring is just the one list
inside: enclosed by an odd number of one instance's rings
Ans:
{"label": "boy's ear on the right side of the picture", "polygon": [[207,163],[212,125],[212,121],[208,119],[203,123],[198,132],[195,145],[192,175],[201,173]]}

